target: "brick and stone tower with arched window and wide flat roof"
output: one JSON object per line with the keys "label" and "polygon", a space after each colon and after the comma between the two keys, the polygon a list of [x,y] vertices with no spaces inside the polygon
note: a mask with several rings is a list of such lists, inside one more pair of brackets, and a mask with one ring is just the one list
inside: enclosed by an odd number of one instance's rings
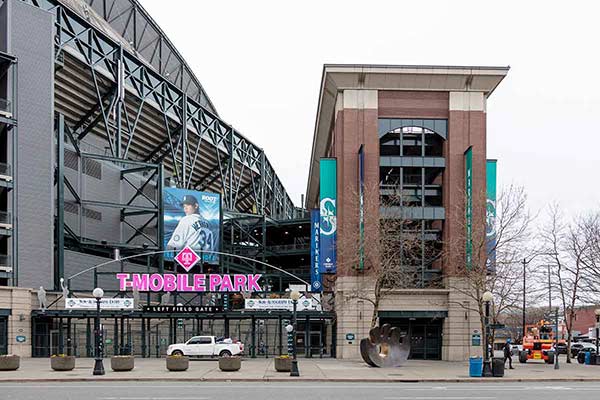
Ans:
{"label": "brick and stone tower with arched window and wide flat roof", "polygon": [[[485,230],[486,103],[505,67],[326,65],[313,139],[307,208],[318,208],[319,161],[337,160],[338,269],[335,283],[338,357],[359,356],[371,327],[374,277],[360,271],[346,247],[359,226],[359,151],[364,157],[364,224],[402,220],[417,238],[402,261],[410,276],[385,290],[380,324],[399,327],[411,340],[411,357],[465,360],[481,352],[481,330],[460,289],[466,268],[466,153],[472,173],[474,231]],[[368,230],[368,227],[364,228]],[[416,235],[415,235],[416,233]],[[371,240],[371,243],[369,243]],[[382,251],[379,239],[365,248]],[[377,242],[377,243],[376,243]],[[404,254],[404,253],[402,253]],[[402,256],[402,255],[401,255]],[[375,263],[377,256],[375,257]],[[376,270],[377,268],[375,268]],[[481,332],[479,332],[481,333]]]}

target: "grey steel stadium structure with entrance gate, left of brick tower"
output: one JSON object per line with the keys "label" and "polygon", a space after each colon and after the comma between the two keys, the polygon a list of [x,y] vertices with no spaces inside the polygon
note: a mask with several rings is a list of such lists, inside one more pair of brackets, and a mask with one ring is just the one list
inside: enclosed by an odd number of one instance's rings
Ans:
{"label": "grey steel stadium structure with entrance gate, left of brick tower", "polygon": [[[116,273],[181,272],[161,253],[171,187],[219,194],[218,248],[240,256],[190,272],[260,273],[258,297],[304,287],[303,210],[137,1],[0,1],[0,51],[0,353],[91,356],[94,313],[65,309],[65,297],[97,286],[135,297]],[[160,356],[197,333],[240,339],[250,356],[286,352],[289,311],[244,310],[239,293],[137,297],[135,310],[103,311],[106,355]],[[332,295],[313,301],[299,350],[331,356]],[[158,304],[211,312],[142,310]]]}

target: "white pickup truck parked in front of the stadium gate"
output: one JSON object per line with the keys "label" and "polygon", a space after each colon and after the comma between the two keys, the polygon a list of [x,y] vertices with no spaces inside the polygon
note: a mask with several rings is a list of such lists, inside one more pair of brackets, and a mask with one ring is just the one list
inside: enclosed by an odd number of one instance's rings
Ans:
{"label": "white pickup truck parked in front of the stadium gate", "polygon": [[218,340],[216,336],[194,336],[185,343],[170,345],[167,348],[167,355],[229,357],[239,355],[243,351],[244,345],[240,342],[233,343],[231,339]]}

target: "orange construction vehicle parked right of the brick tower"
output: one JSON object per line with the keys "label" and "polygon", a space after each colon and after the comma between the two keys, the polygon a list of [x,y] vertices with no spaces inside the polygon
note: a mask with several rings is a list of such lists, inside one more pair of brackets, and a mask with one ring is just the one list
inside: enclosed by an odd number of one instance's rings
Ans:
{"label": "orange construction vehicle parked right of the brick tower", "polygon": [[[519,362],[527,360],[543,360],[547,364],[554,364],[556,351],[555,332],[553,325],[548,321],[540,321],[535,325],[525,326],[526,335],[523,338],[523,350],[519,353]],[[564,343],[559,340],[558,343]]]}

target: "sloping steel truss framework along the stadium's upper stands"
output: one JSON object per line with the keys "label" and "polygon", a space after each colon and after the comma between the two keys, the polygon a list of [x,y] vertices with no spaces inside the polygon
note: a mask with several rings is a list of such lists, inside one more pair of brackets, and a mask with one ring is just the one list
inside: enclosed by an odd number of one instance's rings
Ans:
{"label": "sloping steel truss framework along the stadium's upper stands", "polygon": [[[225,210],[276,219],[294,216],[293,203],[264,151],[198,102],[185,79],[173,82],[171,75],[161,75],[169,56],[148,62],[141,51],[147,43],[137,43],[139,52],[124,45],[113,31],[101,29],[93,10],[76,1],[64,1],[69,7],[55,0],[26,1],[56,15],[55,107],[76,141],[100,137],[111,157],[162,163],[178,187],[220,192]],[[132,15],[145,15],[133,1],[90,1],[113,22],[117,17],[110,16],[125,3]],[[150,19],[146,23],[155,27]],[[161,38],[159,42],[168,43]],[[177,55],[174,49],[170,54]],[[180,67],[187,70],[184,63]]]}

